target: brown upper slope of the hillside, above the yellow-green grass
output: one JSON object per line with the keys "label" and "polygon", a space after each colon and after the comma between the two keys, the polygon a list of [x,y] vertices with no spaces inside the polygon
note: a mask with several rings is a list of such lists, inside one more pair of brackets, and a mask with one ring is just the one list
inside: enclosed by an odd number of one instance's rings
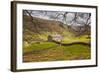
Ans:
{"label": "brown upper slope of the hillside, above the yellow-green grass", "polygon": [[[33,17],[33,23],[29,16],[24,16],[24,29],[28,29],[32,32],[35,32],[36,27],[37,31],[48,31],[48,32],[61,32],[66,29],[66,25],[59,21],[46,20],[41,18]],[[35,32],[37,33],[37,32]]]}

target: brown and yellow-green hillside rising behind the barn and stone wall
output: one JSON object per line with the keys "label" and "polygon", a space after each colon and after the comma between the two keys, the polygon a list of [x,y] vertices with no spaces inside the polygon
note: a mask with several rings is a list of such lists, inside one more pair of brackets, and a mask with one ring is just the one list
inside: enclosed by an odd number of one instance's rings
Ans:
{"label": "brown and yellow-green hillside rising behind the barn and stone wall", "polygon": [[[29,16],[23,16],[23,40],[25,42],[31,43],[33,41],[47,41],[48,35],[60,34],[63,36],[63,42],[73,42],[82,41],[86,42],[89,39],[87,37],[90,35],[89,31],[84,33],[75,32],[73,29],[69,28],[69,25],[63,24],[60,21],[47,20]],[[77,30],[79,28],[77,27]],[[80,30],[80,29],[79,29]],[[81,34],[81,35],[80,35]],[[89,34],[89,35],[88,35]],[[77,35],[80,35],[77,37]]]}

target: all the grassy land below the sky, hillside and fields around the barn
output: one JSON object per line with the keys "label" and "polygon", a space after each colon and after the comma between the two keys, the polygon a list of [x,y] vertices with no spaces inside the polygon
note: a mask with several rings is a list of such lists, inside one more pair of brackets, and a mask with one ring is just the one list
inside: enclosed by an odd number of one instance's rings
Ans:
{"label": "all the grassy land below the sky, hillside and fields around the barn", "polygon": [[[37,29],[36,29],[37,28]],[[90,27],[89,27],[90,29]],[[23,62],[60,61],[60,60],[83,60],[91,58],[90,31],[79,36],[69,25],[60,21],[46,20],[38,17],[23,17]],[[61,44],[47,42],[49,35],[60,34]],[[74,44],[72,44],[74,43]],[[77,43],[77,44],[75,44]],[[66,45],[71,44],[71,45]]]}

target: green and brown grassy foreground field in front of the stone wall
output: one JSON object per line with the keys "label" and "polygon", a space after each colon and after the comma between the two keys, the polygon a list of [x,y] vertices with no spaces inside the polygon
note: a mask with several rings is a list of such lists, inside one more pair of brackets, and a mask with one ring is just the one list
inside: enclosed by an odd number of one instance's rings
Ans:
{"label": "green and brown grassy foreground field in front of the stone wall", "polygon": [[85,45],[60,46],[53,42],[33,43],[23,48],[23,62],[82,60],[91,58],[91,49]]}

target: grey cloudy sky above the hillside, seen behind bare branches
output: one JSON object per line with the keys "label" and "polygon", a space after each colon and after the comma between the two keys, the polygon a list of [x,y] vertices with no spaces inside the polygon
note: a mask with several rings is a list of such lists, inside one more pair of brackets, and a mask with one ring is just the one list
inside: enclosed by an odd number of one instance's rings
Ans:
{"label": "grey cloudy sky above the hillside, seen behind bare branches", "polygon": [[[38,17],[42,19],[48,19],[48,20],[56,20],[61,21],[64,24],[74,24],[74,25],[82,25],[86,23],[86,20],[89,17],[89,13],[82,13],[77,12],[78,17],[76,19],[76,22],[72,20],[75,17],[75,12],[67,12],[65,15],[66,19],[64,19],[63,15],[65,11],[41,11],[41,10],[27,10],[28,12],[31,12],[31,15],[33,17]],[[91,22],[91,18],[89,19],[88,23]]]}

